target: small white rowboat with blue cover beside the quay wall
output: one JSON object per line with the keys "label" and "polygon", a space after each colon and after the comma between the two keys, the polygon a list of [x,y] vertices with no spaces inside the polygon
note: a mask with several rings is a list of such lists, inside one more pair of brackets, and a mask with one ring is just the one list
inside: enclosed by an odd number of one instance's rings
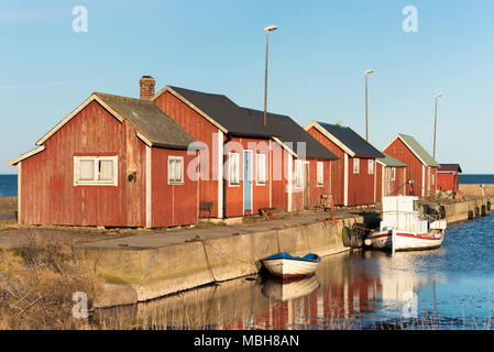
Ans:
{"label": "small white rowboat with blue cover beside the quay wall", "polygon": [[282,278],[294,278],[312,275],[320,261],[320,256],[314,253],[301,257],[292,256],[288,253],[277,253],[261,262],[271,274]]}

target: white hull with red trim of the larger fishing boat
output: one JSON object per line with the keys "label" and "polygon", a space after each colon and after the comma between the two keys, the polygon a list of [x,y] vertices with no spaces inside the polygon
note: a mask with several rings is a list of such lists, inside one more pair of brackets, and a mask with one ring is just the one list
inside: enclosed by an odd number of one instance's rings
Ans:
{"label": "white hull with red trim of the larger fishing boat", "polygon": [[[371,234],[371,246],[377,250],[392,251],[393,232],[381,231]],[[413,232],[396,231],[395,233],[395,251],[417,251],[431,250],[441,245],[444,233],[437,235],[415,234]]]}

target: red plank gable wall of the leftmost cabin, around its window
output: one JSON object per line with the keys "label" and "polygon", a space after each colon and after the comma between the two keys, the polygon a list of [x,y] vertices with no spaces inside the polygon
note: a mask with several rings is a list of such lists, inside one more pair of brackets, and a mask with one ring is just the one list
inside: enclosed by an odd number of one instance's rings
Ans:
{"label": "red plank gable wall of the leftmost cabin, around its window", "polygon": [[[145,147],[92,101],[22,162],[22,223],[144,227]],[[118,186],[74,186],[74,156],[118,156]],[[127,183],[129,169],[136,182]]]}

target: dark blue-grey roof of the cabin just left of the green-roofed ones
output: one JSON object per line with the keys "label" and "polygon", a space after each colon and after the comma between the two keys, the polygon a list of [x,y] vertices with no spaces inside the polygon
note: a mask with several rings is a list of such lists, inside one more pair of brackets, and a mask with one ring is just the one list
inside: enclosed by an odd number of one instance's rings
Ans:
{"label": "dark blue-grey roof of the cabin just left of the green-roofed ones", "polygon": [[376,150],[371,143],[361,138],[355,131],[348,127],[331,124],[326,122],[317,122],[349,150],[355,153],[355,156],[363,157],[384,157],[384,154]]}

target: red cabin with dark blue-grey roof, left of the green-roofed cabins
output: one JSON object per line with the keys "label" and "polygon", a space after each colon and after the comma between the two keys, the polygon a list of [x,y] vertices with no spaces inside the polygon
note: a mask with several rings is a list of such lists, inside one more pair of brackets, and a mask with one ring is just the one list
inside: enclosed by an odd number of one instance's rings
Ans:
{"label": "red cabin with dark blue-grey roof, left of the green-roofed cabins", "polygon": [[350,128],[312,121],[305,129],[339,157],[331,168],[334,204],[374,204],[377,188],[375,161],[384,155]]}

